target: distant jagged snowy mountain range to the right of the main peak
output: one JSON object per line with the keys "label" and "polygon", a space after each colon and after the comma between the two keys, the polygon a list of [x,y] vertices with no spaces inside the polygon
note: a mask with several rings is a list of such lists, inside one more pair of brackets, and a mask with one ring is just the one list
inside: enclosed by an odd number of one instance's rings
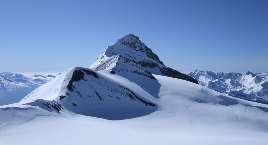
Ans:
{"label": "distant jagged snowy mountain range to the right of the main peak", "polygon": [[240,73],[213,73],[195,70],[188,74],[199,84],[240,99],[268,104],[268,79],[250,71]]}

